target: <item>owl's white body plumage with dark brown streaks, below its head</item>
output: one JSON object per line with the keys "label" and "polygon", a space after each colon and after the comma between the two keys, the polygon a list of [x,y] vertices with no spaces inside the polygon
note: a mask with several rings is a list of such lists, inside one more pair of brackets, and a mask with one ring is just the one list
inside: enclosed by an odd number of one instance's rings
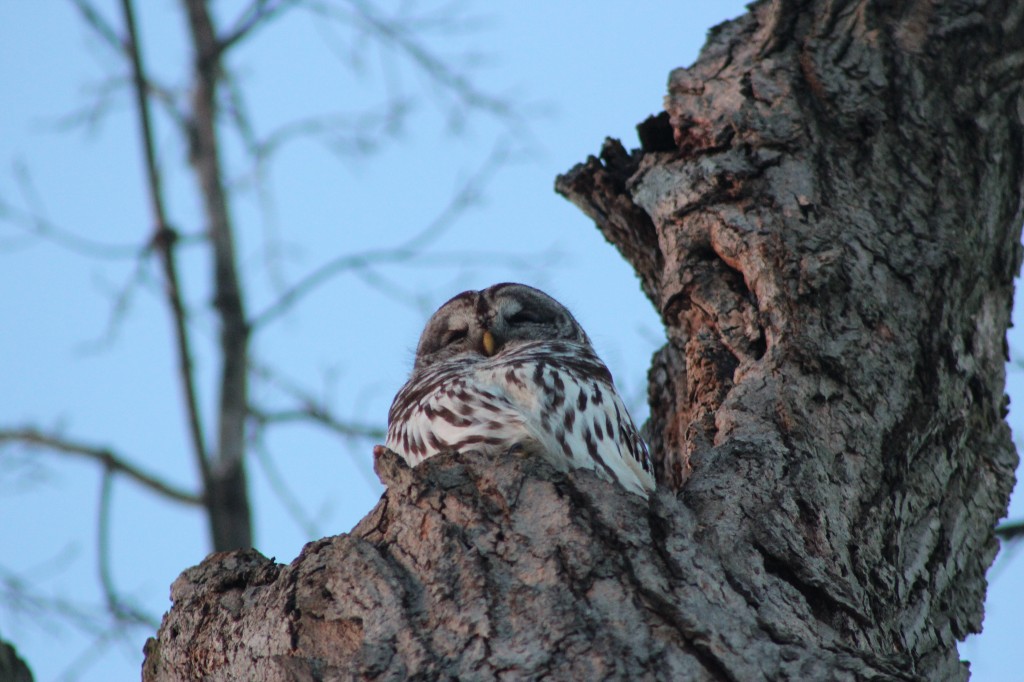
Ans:
{"label": "owl's white body plumage with dark brown streaks, below its head", "polygon": [[534,344],[447,364],[403,386],[388,415],[387,446],[412,466],[449,451],[515,445],[644,497],[654,489],[647,447],[607,368],[579,346]]}

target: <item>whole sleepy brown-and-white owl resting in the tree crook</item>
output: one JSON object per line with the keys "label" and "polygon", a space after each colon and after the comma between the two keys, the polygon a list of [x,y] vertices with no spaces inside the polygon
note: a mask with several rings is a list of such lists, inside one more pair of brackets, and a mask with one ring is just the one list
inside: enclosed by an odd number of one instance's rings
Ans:
{"label": "whole sleepy brown-and-white owl resting in the tree crook", "polygon": [[520,447],[643,497],[654,489],[647,446],[587,334],[561,303],[521,284],[463,292],[430,317],[386,444],[410,466],[447,451]]}

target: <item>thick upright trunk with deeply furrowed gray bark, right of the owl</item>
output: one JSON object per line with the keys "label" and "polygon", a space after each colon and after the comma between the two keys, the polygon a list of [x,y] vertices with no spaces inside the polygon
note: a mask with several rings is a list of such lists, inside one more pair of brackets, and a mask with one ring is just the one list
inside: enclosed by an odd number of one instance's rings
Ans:
{"label": "thick upright trunk with deeply furrowed gray bark, right of the owl", "polygon": [[1018,461],[1022,14],[757,4],[672,74],[643,152],[608,140],[556,185],[662,314],[651,452],[737,543],[723,578],[767,572],[923,679],[967,677]]}

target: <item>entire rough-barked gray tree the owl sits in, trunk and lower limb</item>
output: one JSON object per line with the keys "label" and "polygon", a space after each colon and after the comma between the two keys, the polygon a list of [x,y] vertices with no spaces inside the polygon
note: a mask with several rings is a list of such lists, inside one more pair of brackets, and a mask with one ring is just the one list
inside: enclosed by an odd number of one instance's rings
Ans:
{"label": "entire rough-barked gray tree the owl sits in, trunk and lower limb", "polygon": [[182,574],[145,680],[965,679],[1017,455],[1024,4],[763,2],[559,178],[637,269],[649,504],[379,452],[288,566]]}

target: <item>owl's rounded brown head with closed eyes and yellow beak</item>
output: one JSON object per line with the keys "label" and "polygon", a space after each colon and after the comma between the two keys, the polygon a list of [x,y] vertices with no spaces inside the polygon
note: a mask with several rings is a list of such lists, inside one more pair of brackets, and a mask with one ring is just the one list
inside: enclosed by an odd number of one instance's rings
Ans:
{"label": "owl's rounded brown head with closed eyes and yellow beak", "polygon": [[497,355],[529,341],[590,345],[572,313],[539,289],[506,283],[464,291],[427,321],[414,371],[467,353]]}

